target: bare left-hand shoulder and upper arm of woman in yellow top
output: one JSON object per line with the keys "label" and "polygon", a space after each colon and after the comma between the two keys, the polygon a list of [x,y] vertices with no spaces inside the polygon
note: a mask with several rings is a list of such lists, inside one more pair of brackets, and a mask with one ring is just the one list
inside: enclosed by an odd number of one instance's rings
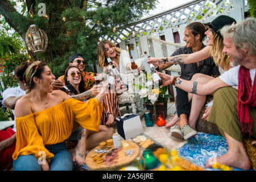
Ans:
{"label": "bare left-hand shoulder and upper arm of woman in yellow top", "polygon": [[27,96],[20,98],[15,104],[15,116],[23,117],[32,113],[32,103]]}

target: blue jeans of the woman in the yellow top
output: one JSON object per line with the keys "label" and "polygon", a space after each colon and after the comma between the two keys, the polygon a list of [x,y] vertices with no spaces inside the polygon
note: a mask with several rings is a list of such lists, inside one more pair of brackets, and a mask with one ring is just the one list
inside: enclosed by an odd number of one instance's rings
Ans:
{"label": "blue jeans of the woman in the yellow top", "polygon": [[[73,160],[65,142],[46,145],[49,152],[54,154],[49,163],[50,171],[72,171]],[[13,162],[14,171],[41,171],[38,159],[34,155],[20,155]]]}

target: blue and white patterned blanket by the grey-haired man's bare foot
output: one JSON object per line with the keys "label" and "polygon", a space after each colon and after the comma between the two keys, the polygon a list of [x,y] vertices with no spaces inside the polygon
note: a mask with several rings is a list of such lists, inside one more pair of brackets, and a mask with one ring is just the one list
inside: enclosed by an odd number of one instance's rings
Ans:
{"label": "blue and white patterned blanket by the grey-haired man's bare foot", "polygon": [[[177,151],[182,158],[204,168],[204,164],[209,158],[213,156],[218,158],[228,152],[228,143],[222,136],[199,132],[195,137],[189,139],[184,146],[177,148]],[[204,169],[207,171],[221,170],[214,168]],[[241,171],[241,169],[233,168],[232,171]]]}

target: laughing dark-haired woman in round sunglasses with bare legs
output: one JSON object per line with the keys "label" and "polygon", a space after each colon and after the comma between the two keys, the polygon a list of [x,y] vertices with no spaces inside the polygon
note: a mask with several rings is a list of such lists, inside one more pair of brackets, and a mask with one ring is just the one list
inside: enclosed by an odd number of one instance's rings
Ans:
{"label": "laughing dark-haired woman in round sunglasses with bare legs", "polygon": [[[71,98],[86,102],[89,97],[97,96],[100,93],[102,86],[96,85],[92,89],[85,91],[84,81],[81,81],[81,71],[78,67],[69,66],[65,70],[64,80],[65,85],[68,90],[64,90]],[[104,107],[105,110],[105,107]],[[85,135],[85,130],[82,127],[73,131],[71,140],[78,140],[77,146],[71,150],[73,161],[77,164],[82,165],[85,163],[85,152],[90,148],[98,146],[100,142],[104,142],[107,139],[112,138],[114,134],[113,127],[108,127],[105,125],[100,125],[99,131],[87,131]],[[75,138],[73,138],[75,136]],[[86,137],[86,138],[85,138]]]}

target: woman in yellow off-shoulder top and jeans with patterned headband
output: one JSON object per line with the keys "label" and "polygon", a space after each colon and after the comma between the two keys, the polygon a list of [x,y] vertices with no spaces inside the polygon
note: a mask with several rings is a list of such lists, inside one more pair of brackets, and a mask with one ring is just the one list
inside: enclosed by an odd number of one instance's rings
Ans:
{"label": "woman in yellow off-shoulder top and jeans with patterned headband", "polygon": [[108,93],[108,83],[85,104],[53,90],[55,76],[40,61],[28,65],[23,78],[28,90],[15,106],[14,170],[72,170],[72,156],[64,140],[71,134],[73,122],[98,131],[103,110],[100,102]]}

